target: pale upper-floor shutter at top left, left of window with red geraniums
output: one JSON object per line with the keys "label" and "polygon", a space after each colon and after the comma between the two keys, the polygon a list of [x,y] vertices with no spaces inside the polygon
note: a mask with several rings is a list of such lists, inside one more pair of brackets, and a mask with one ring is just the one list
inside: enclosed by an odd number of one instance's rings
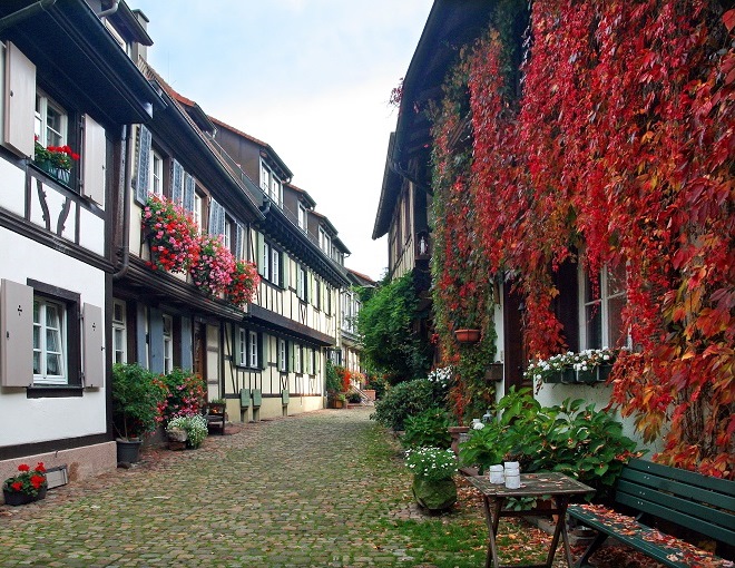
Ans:
{"label": "pale upper-floor shutter at top left, left of window with red geraniums", "polygon": [[32,156],[36,123],[36,66],[12,42],[6,51],[4,143],[19,156]]}

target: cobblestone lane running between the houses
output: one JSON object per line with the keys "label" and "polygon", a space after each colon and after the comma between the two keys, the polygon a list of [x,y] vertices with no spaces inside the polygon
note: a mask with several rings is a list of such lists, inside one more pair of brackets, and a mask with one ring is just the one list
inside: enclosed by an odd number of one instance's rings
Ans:
{"label": "cobblestone lane running between the houses", "polygon": [[376,547],[366,528],[411,515],[401,460],[364,450],[386,438],[371,410],[244,424],[2,506],[0,566],[412,566],[405,542]]}

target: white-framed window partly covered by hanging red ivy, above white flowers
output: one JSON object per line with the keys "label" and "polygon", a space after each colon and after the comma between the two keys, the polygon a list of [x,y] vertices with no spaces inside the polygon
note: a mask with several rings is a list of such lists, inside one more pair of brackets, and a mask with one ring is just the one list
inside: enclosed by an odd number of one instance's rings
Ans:
{"label": "white-framed window partly covered by hanging red ivy, above white flowers", "polygon": [[601,349],[627,344],[627,331],[623,326],[621,315],[626,305],[625,266],[604,268],[596,283],[587,275],[580,281],[584,283],[581,347]]}

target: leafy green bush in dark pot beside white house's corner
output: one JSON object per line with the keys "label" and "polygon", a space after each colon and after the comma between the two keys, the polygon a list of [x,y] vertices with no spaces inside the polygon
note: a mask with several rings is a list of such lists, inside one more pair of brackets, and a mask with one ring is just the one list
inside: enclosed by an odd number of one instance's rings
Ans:
{"label": "leafy green bush in dark pot beside white house's corner", "polygon": [[134,463],[138,461],[141,437],[153,432],[161,420],[166,388],[154,373],[137,363],[116,363],[111,396],[117,460]]}

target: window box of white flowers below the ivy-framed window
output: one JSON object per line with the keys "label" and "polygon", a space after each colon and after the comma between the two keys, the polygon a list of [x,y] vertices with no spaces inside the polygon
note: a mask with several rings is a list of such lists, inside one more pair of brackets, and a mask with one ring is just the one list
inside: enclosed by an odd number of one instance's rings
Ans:
{"label": "window box of white flowers below the ivy-framed window", "polygon": [[594,384],[605,382],[617,358],[617,350],[587,349],[579,353],[568,351],[546,360],[532,361],[526,370],[527,379],[543,383]]}

